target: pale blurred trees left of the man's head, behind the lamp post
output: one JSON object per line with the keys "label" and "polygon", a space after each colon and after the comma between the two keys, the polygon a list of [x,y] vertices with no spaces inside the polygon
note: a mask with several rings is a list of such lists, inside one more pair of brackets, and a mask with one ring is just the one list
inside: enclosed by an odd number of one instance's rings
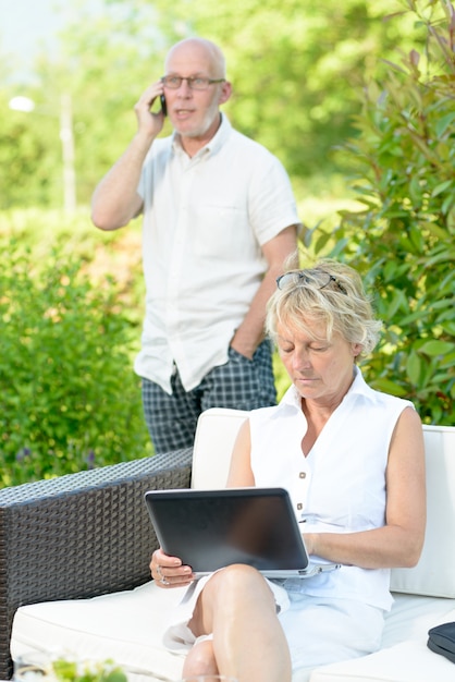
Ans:
{"label": "pale blurred trees left of the man's head, behind the lamp post", "polygon": [[[36,59],[33,82],[0,85],[0,210],[62,205],[62,95],[72,99],[77,200],[87,205],[136,131],[133,107],[151,72],[161,75],[152,8],[94,19],[88,1],[77,4],[58,52]],[[16,95],[33,99],[34,111],[10,110]]]}

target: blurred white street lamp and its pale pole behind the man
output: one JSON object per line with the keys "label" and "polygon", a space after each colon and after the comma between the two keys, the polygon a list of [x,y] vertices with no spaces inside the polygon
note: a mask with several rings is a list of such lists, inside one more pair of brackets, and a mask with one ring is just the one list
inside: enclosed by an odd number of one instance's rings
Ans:
{"label": "blurred white street lamp and its pale pole behind the man", "polygon": [[[34,100],[29,97],[24,97],[23,95],[19,95],[10,99],[9,106],[10,109],[24,111],[25,113],[30,113],[35,110]],[[62,95],[60,98],[60,141],[62,143],[63,162],[63,207],[66,212],[72,214],[76,209],[76,172],[74,168],[74,135],[71,95]]]}

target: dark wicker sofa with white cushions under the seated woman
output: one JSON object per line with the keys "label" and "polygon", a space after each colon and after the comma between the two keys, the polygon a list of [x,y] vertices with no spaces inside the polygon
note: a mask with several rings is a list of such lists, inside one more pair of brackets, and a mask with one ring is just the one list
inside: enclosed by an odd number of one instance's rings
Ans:
{"label": "dark wicker sofa with white cushions under the seated woman", "polygon": [[[70,651],[114,658],[132,682],[172,681],[183,658],[161,643],[181,590],[149,581],[156,537],[147,489],[222,487],[247,413],[209,410],[194,451],[0,491],[0,678],[11,653]],[[428,629],[455,620],[455,427],[425,427],[428,527],[415,569],[394,570],[395,604],[381,650],[296,671],[293,682],[448,682],[455,668],[427,646]]]}

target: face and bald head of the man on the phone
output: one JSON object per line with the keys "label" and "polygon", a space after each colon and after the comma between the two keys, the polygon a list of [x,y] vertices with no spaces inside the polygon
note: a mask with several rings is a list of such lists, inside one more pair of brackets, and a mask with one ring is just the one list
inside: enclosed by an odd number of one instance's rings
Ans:
{"label": "face and bald head of the man on the phone", "polygon": [[[197,42],[187,42],[174,48],[165,63],[165,74],[177,76],[202,76],[222,78],[210,52]],[[168,115],[182,137],[208,142],[220,124],[220,103],[231,94],[228,83],[210,84],[207,90],[194,90],[187,81],[177,89],[164,87]]]}

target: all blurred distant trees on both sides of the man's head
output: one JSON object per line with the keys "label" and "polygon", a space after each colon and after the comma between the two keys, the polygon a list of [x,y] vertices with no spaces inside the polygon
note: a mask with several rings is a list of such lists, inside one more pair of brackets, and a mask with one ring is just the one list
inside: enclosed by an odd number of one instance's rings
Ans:
{"label": "all blurred distant trees on both sides of the man's head", "polygon": [[[296,185],[344,171],[332,148],[353,133],[358,83],[374,56],[410,44],[414,34],[406,16],[385,21],[397,0],[200,0],[190,11],[187,0],[107,0],[95,19],[87,4],[77,2],[59,50],[37,60],[33,84],[0,88],[0,208],[61,205],[63,94],[73,102],[77,199],[88,204],[136,131],[135,101],[162,74],[170,45],[189,35],[223,47],[234,87],[225,111],[279,156]],[[34,99],[33,113],[8,110],[19,94]]]}

